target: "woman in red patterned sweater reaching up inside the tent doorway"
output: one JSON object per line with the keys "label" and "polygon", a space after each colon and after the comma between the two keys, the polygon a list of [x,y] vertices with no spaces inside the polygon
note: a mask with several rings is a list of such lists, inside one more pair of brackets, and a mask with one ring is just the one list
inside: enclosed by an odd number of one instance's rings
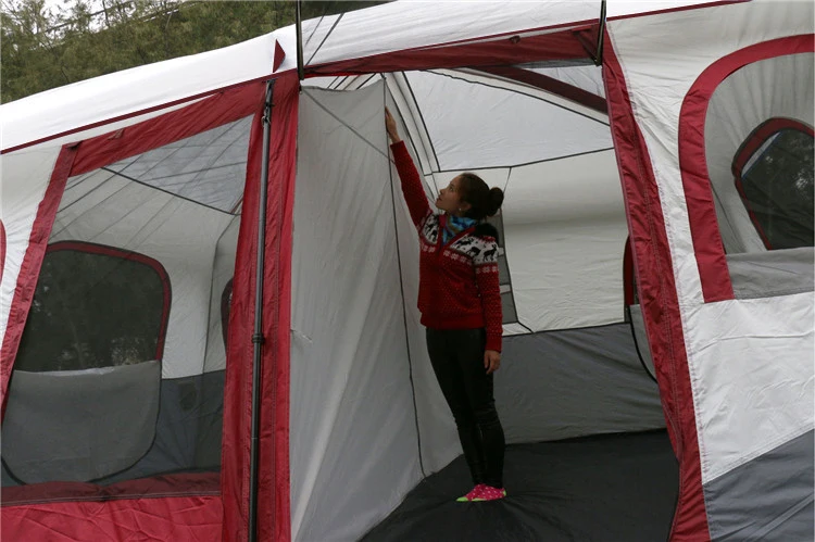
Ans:
{"label": "woman in red patterned sweater reaching up inside the tent doorway", "polygon": [[442,213],[434,213],[387,109],[385,126],[419,234],[418,308],[427,328],[427,351],[475,484],[459,501],[503,499],[504,432],[492,395],[503,330],[498,231],[482,220],[498,212],[504,196],[464,173],[439,191],[436,207]]}

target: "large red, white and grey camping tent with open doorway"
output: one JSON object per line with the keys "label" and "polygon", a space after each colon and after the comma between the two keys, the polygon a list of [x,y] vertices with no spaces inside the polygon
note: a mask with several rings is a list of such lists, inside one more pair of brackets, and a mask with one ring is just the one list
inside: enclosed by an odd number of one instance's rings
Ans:
{"label": "large red, white and grey camping tent with open doorway", "polygon": [[506,191],[507,440],[666,427],[670,540],[812,539],[813,5],[603,7],[394,2],[305,22],[302,87],[290,27],[2,105],[3,539],[352,540],[456,457],[384,105],[428,194]]}

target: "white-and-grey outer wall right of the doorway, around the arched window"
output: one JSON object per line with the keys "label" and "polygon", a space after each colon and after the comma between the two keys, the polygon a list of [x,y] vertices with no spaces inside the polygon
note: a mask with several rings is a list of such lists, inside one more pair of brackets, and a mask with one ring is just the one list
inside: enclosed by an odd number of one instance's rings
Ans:
{"label": "white-and-grey outer wall right of the doorway, around the arched window", "polygon": [[[812,2],[754,0],[609,25],[659,186],[690,373],[704,504],[714,539],[812,538],[813,295],[705,302],[690,201],[679,168],[677,127],[688,91],[714,62],[790,36],[811,43],[813,8]],[[811,80],[810,74],[807,68],[801,75]],[[798,76],[792,72],[776,80],[783,85]],[[797,117],[811,114],[811,89],[800,96]],[[749,118],[752,103],[731,106],[743,108]],[[737,116],[742,114],[739,111]],[[793,442],[802,445],[792,446]],[[782,470],[787,462],[798,465],[797,476]],[[751,465],[760,472],[740,476],[741,467]],[[766,480],[762,483],[766,494],[756,494],[757,479]],[[765,506],[764,497],[773,507]]]}

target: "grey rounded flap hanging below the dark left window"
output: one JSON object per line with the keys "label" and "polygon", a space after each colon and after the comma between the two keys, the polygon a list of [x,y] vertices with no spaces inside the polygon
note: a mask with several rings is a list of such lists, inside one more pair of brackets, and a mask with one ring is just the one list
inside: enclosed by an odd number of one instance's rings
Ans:
{"label": "grey rounded flap hanging below the dark left window", "polygon": [[7,468],[37,483],[89,481],[130,467],[152,445],[160,382],[158,361],[14,371],[2,434]]}

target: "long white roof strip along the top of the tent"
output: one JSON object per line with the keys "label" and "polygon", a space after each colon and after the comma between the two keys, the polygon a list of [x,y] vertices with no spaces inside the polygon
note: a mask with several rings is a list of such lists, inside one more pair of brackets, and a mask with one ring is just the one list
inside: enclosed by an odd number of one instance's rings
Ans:
{"label": "long white roof strip along the top of the tent", "polygon": [[[607,16],[702,7],[712,2],[610,2]],[[720,2],[713,2],[720,3]],[[303,23],[308,65],[457,41],[568,28],[600,16],[599,0],[502,2],[398,1]],[[286,52],[277,73],[297,67],[296,29],[223,49],[138,66],[0,105],[3,152],[113,119],[181,103],[272,75],[275,42]]]}

